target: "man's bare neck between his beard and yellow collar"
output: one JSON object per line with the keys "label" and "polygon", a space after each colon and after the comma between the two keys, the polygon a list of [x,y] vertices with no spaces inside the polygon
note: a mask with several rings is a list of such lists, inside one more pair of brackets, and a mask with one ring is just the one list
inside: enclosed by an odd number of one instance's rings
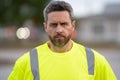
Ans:
{"label": "man's bare neck between his beard and yellow collar", "polygon": [[69,51],[72,48],[73,43],[72,43],[72,40],[69,40],[68,43],[63,47],[57,47],[57,46],[54,46],[51,42],[49,42],[48,46],[52,51],[62,53],[62,52]]}

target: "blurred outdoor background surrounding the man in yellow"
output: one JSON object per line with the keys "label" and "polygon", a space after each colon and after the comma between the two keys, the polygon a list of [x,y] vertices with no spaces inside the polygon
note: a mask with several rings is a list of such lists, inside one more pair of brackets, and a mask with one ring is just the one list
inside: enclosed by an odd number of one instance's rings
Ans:
{"label": "blurred outdoor background surrounding the man in yellow", "polygon": [[[0,80],[16,59],[46,42],[43,9],[51,0],[0,0]],[[120,80],[120,0],[64,0],[77,21],[73,40],[106,57]]]}

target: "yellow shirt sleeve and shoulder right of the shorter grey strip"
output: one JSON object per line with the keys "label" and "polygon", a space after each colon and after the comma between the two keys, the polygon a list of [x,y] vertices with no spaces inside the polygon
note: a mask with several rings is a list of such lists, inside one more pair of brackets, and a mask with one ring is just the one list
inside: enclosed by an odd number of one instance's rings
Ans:
{"label": "yellow shirt sleeve and shoulder right of the shorter grey strip", "polygon": [[[95,75],[96,80],[116,80],[115,74],[107,61],[107,59],[98,53],[97,51],[93,50],[95,55]],[[104,75],[103,75],[104,74]]]}

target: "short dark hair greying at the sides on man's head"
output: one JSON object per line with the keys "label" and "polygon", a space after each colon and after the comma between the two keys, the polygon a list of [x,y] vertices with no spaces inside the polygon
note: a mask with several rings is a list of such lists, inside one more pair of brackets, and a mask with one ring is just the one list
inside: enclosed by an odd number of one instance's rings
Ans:
{"label": "short dark hair greying at the sides on man's head", "polygon": [[73,19],[73,8],[65,1],[51,1],[44,9],[44,20],[48,20],[48,14],[53,11],[68,11],[71,20]]}

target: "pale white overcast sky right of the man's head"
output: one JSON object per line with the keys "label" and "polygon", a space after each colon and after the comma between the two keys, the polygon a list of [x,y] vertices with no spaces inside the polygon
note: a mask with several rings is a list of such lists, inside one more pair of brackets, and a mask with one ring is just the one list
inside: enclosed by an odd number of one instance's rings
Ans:
{"label": "pale white overcast sky right of the man's head", "polygon": [[107,3],[120,3],[120,0],[62,0],[70,3],[75,16],[99,14]]}

